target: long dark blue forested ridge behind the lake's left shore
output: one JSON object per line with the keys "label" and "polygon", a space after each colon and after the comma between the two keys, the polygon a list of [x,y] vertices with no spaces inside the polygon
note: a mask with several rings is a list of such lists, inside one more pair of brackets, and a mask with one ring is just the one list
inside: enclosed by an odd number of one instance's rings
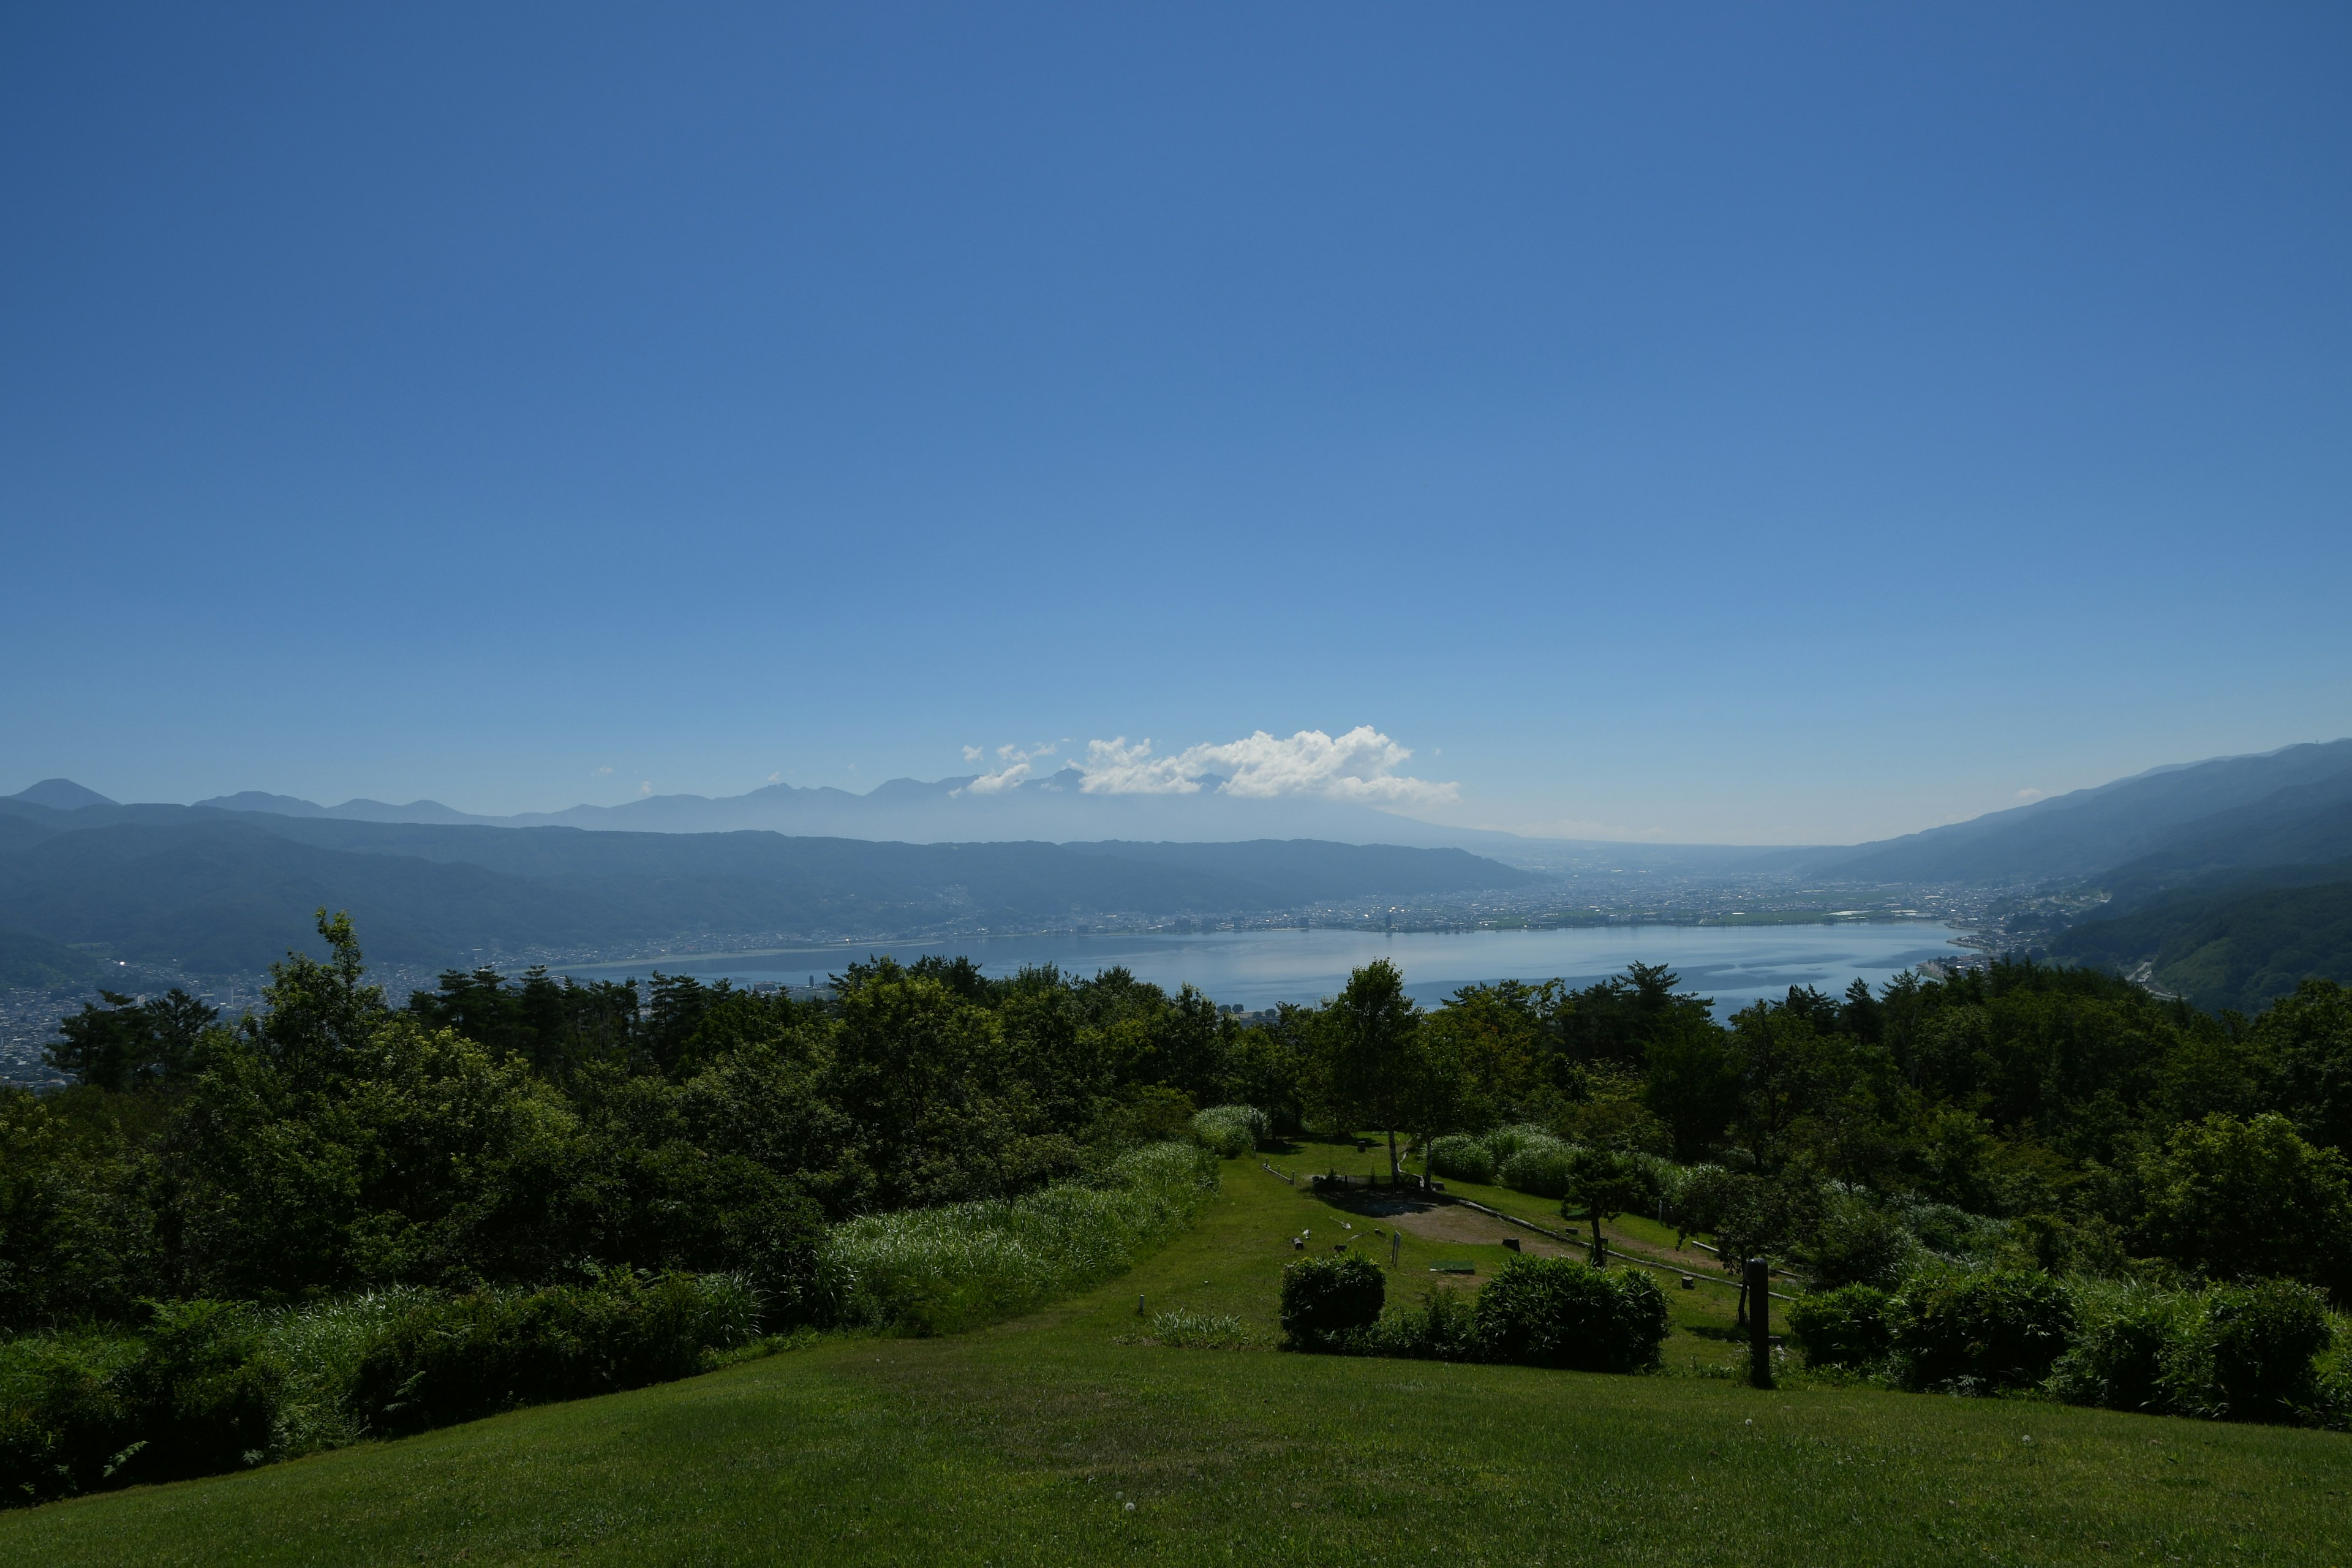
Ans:
{"label": "long dark blue forested ridge behind the lake's left shore", "polygon": [[0,924],[242,973],[350,910],[390,964],[708,933],[889,936],[946,922],[1235,914],[1536,882],[1458,849],[870,844],[774,832],[433,827],[87,806],[0,813]]}

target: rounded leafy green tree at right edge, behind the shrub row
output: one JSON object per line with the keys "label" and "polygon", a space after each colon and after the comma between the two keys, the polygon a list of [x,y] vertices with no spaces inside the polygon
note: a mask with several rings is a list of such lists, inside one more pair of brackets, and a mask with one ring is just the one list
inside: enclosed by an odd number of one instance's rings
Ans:
{"label": "rounded leafy green tree at right edge, behind the shrub row", "polygon": [[2277,1114],[2206,1117],[2143,1157],[2150,1251],[2213,1279],[2352,1284],[2352,1166]]}

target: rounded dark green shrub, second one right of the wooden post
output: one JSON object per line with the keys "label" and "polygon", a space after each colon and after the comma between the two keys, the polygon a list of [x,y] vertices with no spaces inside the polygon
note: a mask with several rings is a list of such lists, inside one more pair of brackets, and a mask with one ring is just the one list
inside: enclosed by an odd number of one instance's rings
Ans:
{"label": "rounded dark green shrub, second one right of the wooden post", "polygon": [[2074,1302],[2027,1269],[1912,1274],[1889,1319],[1915,1387],[2032,1387],[2074,1338]]}

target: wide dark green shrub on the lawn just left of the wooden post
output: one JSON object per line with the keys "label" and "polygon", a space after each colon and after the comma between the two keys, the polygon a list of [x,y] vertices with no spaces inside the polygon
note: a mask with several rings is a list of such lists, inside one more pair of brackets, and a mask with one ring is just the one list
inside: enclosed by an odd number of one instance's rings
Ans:
{"label": "wide dark green shrub on the lawn just left of the wooden post", "polygon": [[1668,1331],[1665,1291],[1649,1274],[1529,1255],[1503,1260],[1472,1321],[1486,1359],[1595,1373],[1656,1366]]}

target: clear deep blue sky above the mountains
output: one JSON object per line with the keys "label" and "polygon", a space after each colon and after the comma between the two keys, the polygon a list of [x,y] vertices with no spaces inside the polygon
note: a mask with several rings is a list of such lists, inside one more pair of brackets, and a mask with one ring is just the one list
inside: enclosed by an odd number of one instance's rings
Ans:
{"label": "clear deep blue sky above the mountains", "polygon": [[[0,12],[0,790],[2352,733],[2343,5]],[[612,769],[612,771],[600,771]]]}

